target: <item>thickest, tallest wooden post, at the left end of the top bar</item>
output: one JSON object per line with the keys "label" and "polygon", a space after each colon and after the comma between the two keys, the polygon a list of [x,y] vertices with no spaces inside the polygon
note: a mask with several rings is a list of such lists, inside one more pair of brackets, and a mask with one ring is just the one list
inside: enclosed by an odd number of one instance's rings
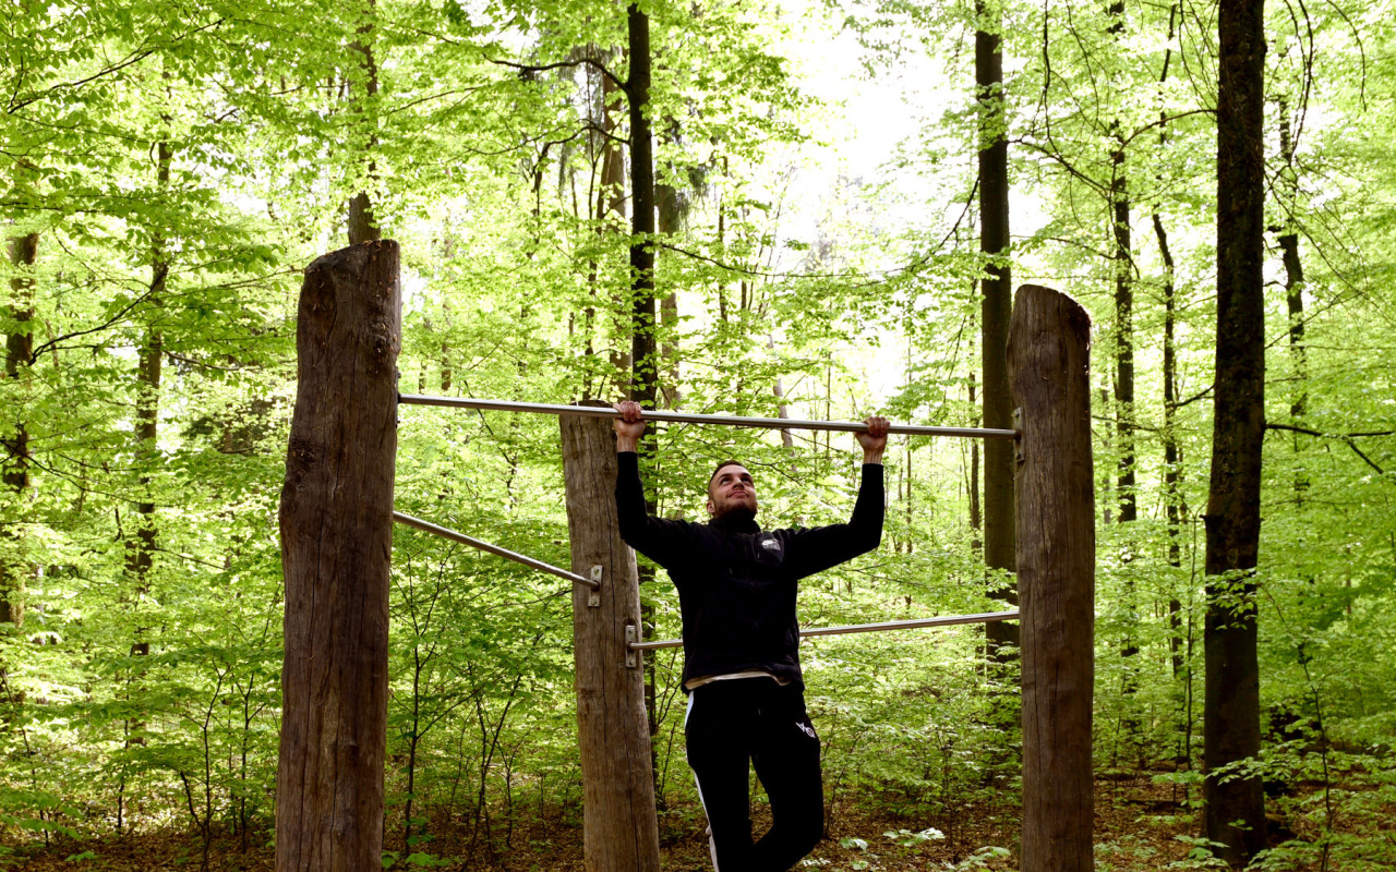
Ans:
{"label": "thickest, tallest wooden post, at the left end of the top bar", "polygon": [[276,869],[363,872],[383,865],[398,244],[315,260],[297,317]]}

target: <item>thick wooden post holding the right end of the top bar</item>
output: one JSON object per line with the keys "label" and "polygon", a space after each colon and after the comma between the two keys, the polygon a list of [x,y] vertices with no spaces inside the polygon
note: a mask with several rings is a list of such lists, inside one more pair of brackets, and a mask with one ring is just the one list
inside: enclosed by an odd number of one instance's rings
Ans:
{"label": "thick wooden post holding the right end of the top bar", "polygon": [[1020,414],[1022,872],[1085,872],[1092,854],[1090,705],[1096,527],[1090,455],[1090,317],[1023,285],[1008,373]]}

